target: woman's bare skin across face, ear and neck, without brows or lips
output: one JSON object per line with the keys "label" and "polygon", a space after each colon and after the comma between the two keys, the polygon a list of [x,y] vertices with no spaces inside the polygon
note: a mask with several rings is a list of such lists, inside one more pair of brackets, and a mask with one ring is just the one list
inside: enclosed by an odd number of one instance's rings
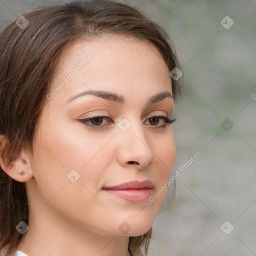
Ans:
{"label": "woman's bare skin across face, ear and neck, without brows or lips", "polygon": [[[166,63],[147,41],[107,38],[80,41],[63,51],[49,91],[94,48],[99,50],[47,100],[37,123],[33,155],[22,152],[11,166],[0,158],[8,175],[26,182],[29,229],[17,249],[29,256],[128,256],[129,236],[148,231],[166,195],[165,190],[154,202],[130,202],[102,190],[148,179],[154,194],[168,180],[175,158],[172,125],[160,127],[163,120],[148,119],[153,114],[172,115],[171,97],[147,104],[155,93],[172,95]],[[87,90],[123,95],[125,103],[84,95],[65,104]],[[105,125],[97,129],[78,121],[93,113],[109,115],[111,121],[103,119]],[[123,118],[131,124],[127,131],[117,125]],[[74,183],[67,178],[72,169],[80,174]],[[123,221],[130,226],[125,234],[118,228]]]}

